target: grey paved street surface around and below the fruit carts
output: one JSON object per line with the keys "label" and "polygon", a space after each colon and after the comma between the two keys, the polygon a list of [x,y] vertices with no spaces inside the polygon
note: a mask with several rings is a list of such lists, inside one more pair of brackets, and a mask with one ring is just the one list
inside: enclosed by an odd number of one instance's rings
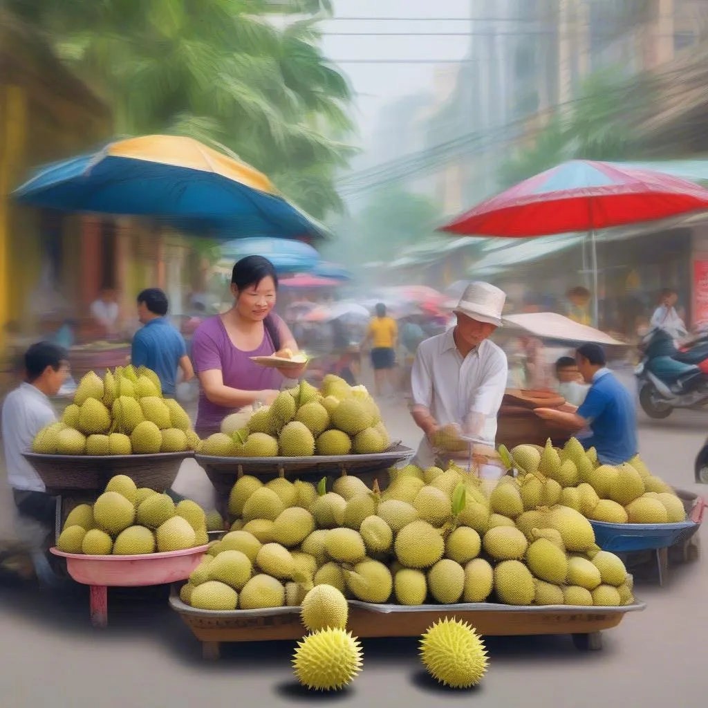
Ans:
{"label": "grey paved street surface around and below the fruit carts", "polygon": [[[417,440],[404,406],[382,405],[389,428],[409,445]],[[641,424],[641,452],[671,484],[693,484],[692,462],[708,418],[681,413]],[[208,483],[185,469],[178,480],[208,496]],[[703,536],[706,535],[705,528]],[[704,547],[708,547],[704,538]],[[202,661],[200,645],[166,598],[112,595],[110,626],[91,628],[86,598],[60,605],[24,586],[0,586],[4,656],[0,668],[8,708],[164,708],[306,701],[378,706],[460,704],[490,707],[572,705],[578,708],[637,704],[643,708],[702,708],[708,695],[704,628],[708,626],[708,561],[676,566],[670,584],[641,584],[649,603],[605,633],[605,647],[578,653],[569,637],[488,641],[489,673],[479,690],[440,690],[421,672],[416,640],[364,641],[365,664],[353,687],[334,697],[307,695],[293,683],[292,644],[227,646],[221,661]],[[132,598],[132,600],[131,600]]]}

